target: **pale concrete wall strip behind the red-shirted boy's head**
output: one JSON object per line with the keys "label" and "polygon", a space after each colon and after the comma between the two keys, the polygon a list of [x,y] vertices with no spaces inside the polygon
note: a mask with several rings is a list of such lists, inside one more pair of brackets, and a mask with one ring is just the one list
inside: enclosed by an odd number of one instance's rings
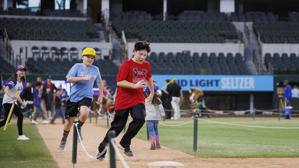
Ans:
{"label": "pale concrete wall strip behind the red-shirted boy's head", "polygon": [[[132,50],[134,49],[135,42],[128,43],[128,56],[131,58]],[[201,53],[211,53],[214,52],[218,55],[218,53],[222,52],[224,54],[230,52],[232,54],[241,53],[244,55],[244,44],[243,43],[150,43],[151,52],[164,52],[167,54],[168,52],[182,52],[184,50],[190,51],[191,55],[194,52],[198,52],[199,55]]]}

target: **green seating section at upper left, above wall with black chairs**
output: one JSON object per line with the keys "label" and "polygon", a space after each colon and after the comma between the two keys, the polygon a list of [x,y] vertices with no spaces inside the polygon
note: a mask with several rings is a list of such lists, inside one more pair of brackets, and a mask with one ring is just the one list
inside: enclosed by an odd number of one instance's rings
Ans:
{"label": "green seating section at upper left, above wall with black chairs", "polygon": [[91,20],[0,18],[0,33],[10,40],[93,41],[99,38]]}

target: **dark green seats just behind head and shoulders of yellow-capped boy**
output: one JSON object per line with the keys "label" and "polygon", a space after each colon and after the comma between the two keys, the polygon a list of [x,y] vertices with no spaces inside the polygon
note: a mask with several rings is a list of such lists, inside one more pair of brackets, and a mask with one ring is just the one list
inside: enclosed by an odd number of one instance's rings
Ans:
{"label": "dark green seats just behind head and shoulders of yellow-capped boy", "polygon": [[[26,61],[26,68],[28,72],[33,74],[67,74],[75,63],[82,63],[81,59],[73,58],[61,59],[56,57],[54,59],[48,57],[33,58],[30,57]],[[94,59],[92,65],[100,69],[101,75],[117,75],[119,67],[110,59]],[[12,68],[13,69],[13,68]]]}

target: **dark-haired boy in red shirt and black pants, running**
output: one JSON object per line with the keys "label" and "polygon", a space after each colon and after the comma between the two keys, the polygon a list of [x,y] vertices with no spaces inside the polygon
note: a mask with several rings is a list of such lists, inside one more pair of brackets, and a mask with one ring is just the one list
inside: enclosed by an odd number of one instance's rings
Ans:
{"label": "dark-haired boy in red shirt and black pants, running", "polygon": [[[124,151],[127,156],[133,156],[130,149],[131,140],[145,123],[145,97],[143,89],[145,84],[149,86],[151,94],[147,99],[152,102],[154,87],[152,82],[152,73],[149,62],[145,61],[147,54],[150,52],[149,43],[138,41],[135,43],[132,59],[128,59],[120,66],[116,83],[118,85],[115,97],[115,117],[111,123],[111,128],[116,136],[120,134],[126,125],[129,112],[133,118],[123,138],[118,143],[118,147]],[[107,133],[108,133],[107,132]],[[97,161],[105,159],[106,151],[103,151],[109,140],[106,134],[104,140],[100,143],[97,151]],[[102,155],[101,152],[104,152]]]}

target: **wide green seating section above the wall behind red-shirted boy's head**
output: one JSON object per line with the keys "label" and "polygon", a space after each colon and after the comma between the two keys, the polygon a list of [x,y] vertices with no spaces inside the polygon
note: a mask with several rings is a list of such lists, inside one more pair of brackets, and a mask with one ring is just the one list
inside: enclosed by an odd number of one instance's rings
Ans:
{"label": "wide green seating section above the wall behind red-shirted boy's head", "polygon": [[114,21],[112,28],[120,37],[148,42],[224,43],[238,41],[236,27],[231,22],[199,21]]}

